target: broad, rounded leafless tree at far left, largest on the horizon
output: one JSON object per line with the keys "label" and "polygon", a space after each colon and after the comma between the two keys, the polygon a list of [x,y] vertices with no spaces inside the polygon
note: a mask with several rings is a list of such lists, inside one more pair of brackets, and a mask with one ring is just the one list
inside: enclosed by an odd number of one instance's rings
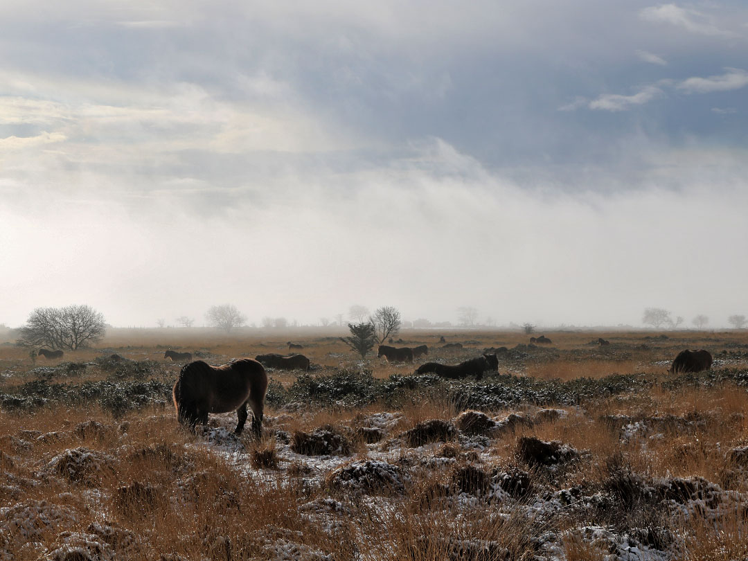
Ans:
{"label": "broad, rounded leafless tree at far left, largest on the horizon", "polygon": [[75,351],[104,338],[104,316],[91,306],[37,307],[20,329],[18,343]]}

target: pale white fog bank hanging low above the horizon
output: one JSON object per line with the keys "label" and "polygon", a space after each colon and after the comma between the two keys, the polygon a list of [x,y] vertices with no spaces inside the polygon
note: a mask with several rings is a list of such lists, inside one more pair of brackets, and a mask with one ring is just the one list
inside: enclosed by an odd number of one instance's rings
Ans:
{"label": "pale white fog bank hanging low above the horizon", "polygon": [[441,141],[417,154],[235,188],[79,177],[27,191],[0,206],[0,322],[72,303],[117,326],[200,325],[223,303],[257,325],[347,320],[352,304],[453,323],[471,306],[496,325],[638,326],[645,307],[663,307],[717,328],[748,312],[739,178],[687,183],[676,170],[677,188],[671,174],[572,191],[504,180]]}

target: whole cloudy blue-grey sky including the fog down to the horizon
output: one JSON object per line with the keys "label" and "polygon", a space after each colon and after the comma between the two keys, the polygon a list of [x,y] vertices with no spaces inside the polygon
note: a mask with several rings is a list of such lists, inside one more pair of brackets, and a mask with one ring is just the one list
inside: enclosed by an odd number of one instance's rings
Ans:
{"label": "whole cloudy blue-grey sky including the fog down to the horizon", "polygon": [[727,325],[747,131],[742,0],[1,2],[0,323]]}

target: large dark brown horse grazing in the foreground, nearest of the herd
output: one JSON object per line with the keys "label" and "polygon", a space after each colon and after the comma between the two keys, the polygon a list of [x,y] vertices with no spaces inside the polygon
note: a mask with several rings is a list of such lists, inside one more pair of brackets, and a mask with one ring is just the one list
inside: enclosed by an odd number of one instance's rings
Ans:
{"label": "large dark brown horse grazing in the foreground, nearest of the herd", "polygon": [[212,367],[203,361],[185,364],[174,384],[177,420],[194,430],[206,425],[209,413],[236,411],[239,422],[235,435],[242,434],[247,421],[247,405],[252,410],[252,432],[260,438],[263,430],[263,404],[268,390],[268,375],[263,365],[251,358]]}

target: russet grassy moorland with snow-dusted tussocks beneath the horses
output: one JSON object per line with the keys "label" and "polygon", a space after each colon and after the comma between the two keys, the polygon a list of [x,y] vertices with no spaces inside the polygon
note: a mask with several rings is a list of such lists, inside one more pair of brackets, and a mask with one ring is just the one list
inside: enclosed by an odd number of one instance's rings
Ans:
{"label": "russet grassy moorland with snow-dusted tussocks beneath the horses", "polygon": [[[414,364],[340,335],[114,329],[35,361],[0,342],[0,560],[748,558],[748,331],[403,330],[429,346]],[[177,424],[165,350],[288,340],[312,368],[268,369],[261,441],[236,414]],[[500,347],[479,381],[414,372]],[[682,349],[711,370],[668,373]]]}

